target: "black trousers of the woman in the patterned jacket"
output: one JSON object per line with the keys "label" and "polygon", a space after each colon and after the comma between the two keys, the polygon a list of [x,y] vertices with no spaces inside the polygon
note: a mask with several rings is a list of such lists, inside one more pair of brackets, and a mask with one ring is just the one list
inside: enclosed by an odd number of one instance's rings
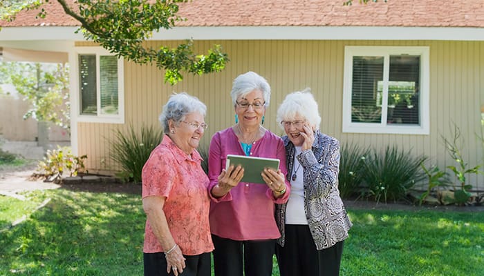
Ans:
{"label": "black trousers of the woman in the patterned jacket", "polygon": [[277,245],[281,276],[338,276],[343,242],[316,250],[309,226],[286,224],[284,247]]}

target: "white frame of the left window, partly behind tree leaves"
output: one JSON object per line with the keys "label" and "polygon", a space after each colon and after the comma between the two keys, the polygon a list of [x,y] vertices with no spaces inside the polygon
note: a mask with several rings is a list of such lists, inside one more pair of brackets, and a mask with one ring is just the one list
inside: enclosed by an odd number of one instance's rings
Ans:
{"label": "white frame of the left window, partly behind tree leaves", "polygon": [[[97,102],[97,115],[83,115],[80,110],[81,95],[80,95],[80,78],[79,78],[79,55],[95,55],[96,56],[96,77],[100,79],[100,56],[113,56],[102,47],[79,47],[75,48],[75,59],[73,59],[73,74],[71,75],[75,79],[74,87],[75,92],[75,110],[78,122],[86,123],[107,123],[107,124],[124,124],[124,59],[121,57],[118,59],[118,114],[101,114],[101,83],[96,83],[96,102]],[[71,108],[74,106],[71,105]]]}

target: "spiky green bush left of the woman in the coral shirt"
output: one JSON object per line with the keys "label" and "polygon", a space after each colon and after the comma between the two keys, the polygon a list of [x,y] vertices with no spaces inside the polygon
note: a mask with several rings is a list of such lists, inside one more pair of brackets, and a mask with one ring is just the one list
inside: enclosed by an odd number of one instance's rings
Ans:
{"label": "spiky green bush left of the woman in the coral shirt", "polygon": [[163,131],[153,126],[141,127],[141,133],[130,126],[127,135],[120,130],[116,131],[115,141],[111,144],[111,159],[121,166],[120,176],[124,181],[141,182],[141,171],[146,161],[163,137]]}

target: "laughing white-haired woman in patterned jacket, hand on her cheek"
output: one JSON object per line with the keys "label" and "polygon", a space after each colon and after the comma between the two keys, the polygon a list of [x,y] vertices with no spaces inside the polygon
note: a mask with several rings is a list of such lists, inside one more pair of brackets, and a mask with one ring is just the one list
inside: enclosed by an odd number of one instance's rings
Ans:
{"label": "laughing white-haired woman in patterned jacket, hand on her cheek", "polygon": [[287,157],[291,194],[277,204],[281,276],[339,275],[343,242],[352,224],[339,197],[339,141],[319,131],[321,117],[309,90],[286,96],[277,122]]}

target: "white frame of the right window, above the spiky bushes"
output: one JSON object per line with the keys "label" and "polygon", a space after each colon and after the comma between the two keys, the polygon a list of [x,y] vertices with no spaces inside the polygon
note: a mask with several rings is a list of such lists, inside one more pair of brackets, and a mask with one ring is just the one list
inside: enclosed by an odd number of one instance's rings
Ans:
{"label": "white frame of the right window, above the spiky bushes", "polygon": [[[429,94],[430,70],[429,47],[427,46],[346,46],[344,48],[343,83],[343,132],[388,133],[408,135],[429,135]],[[420,56],[420,126],[404,126],[381,123],[355,123],[351,121],[351,90],[353,83],[353,57],[384,57],[383,80],[388,83],[391,55]],[[387,117],[388,84],[384,84],[382,117]]]}

